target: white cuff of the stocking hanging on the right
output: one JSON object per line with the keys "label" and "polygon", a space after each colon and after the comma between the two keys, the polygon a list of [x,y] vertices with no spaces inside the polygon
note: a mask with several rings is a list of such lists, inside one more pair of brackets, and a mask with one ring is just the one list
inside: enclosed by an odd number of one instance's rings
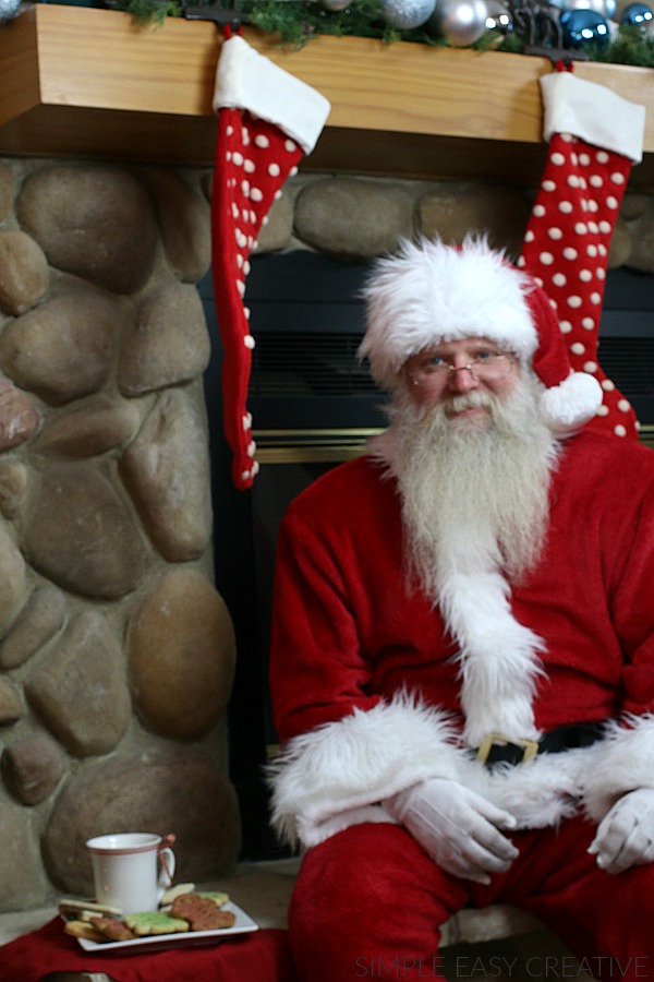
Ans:
{"label": "white cuff of the stocking hanging on the right", "polygon": [[546,141],[555,133],[569,133],[640,164],[645,135],[644,106],[628,101],[605,85],[578,79],[571,72],[552,72],[540,82]]}

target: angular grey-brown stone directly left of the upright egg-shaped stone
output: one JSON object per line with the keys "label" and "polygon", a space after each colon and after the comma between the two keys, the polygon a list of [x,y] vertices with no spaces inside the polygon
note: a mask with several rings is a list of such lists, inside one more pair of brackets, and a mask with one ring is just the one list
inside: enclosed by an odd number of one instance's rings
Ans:
{"label": "angular grey-brown stone directly left of the upright egg-shaped stone", "polygon": [[132,703],[122,651],[106,618],[96,611],[76,614],[26,679],[25,695],[69,753],[87,757],[113,750]]}

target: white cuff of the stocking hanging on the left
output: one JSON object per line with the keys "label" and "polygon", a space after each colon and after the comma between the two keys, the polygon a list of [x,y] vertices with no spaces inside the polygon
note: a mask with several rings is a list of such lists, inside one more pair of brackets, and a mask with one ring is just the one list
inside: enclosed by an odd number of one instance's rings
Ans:
{"label": "white cuff of the stocking hanging on the left", "polygon": [[310,154],[331,106],[311,85],[259,55],[240,35],[222,44],[213,101],[219,109],[247,109],[279,127]]}

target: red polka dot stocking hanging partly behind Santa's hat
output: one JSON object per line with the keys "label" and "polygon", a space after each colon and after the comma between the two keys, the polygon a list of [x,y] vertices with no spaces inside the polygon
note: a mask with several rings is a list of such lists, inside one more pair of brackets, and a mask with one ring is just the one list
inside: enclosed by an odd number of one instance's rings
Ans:
{"label": "red polka dot stocking hanging partly behind Santa's hat", "polygon": [[601,368],[598,331],[610,239],[631,165],[642,156],[644,109],[568,72],[541,85],[548,157],[518,264],[550,298],[571,368],[602,386],[588,426],[638,438],[630,403]]}

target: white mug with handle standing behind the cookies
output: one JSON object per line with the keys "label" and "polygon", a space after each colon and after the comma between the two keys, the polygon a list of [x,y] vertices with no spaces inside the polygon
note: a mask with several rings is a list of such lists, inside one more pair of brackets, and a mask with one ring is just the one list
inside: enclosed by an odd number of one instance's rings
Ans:
{"label": "white mug with handle standing behind the cookies", "polygon": [[123,915],[157,910],[172,884],[174,836],[116,833],[88,839],[95,899],[118,907]]}

